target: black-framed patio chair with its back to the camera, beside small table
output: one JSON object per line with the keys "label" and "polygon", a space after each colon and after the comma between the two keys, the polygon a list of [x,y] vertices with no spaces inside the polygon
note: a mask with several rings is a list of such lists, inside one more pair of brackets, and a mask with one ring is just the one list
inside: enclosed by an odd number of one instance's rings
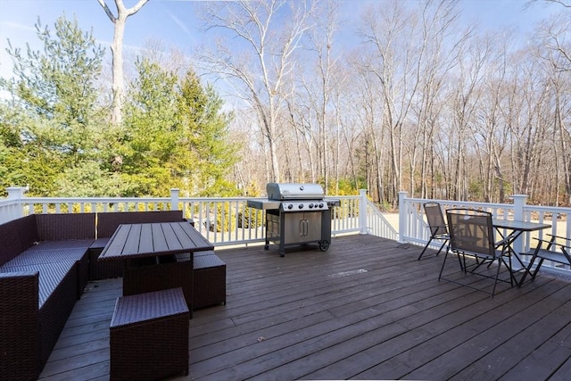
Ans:
{"label": "black-framed patio chair with its back to the camera, beside small table", "polygon": [[[509,283],[514,286],[511,272],[511,258],[505,255],[505,250],[497,250],[494,242],[492,213],[487,211],[475,211],[471,209],[449,209],[446,211],[448,228],[450,231],[450,249],[459,256],[460,269],[464,274],[469,272],[493,279],[492,292],[485,291],[486,287],[470,286],[455,279],[444,278],[443,270],[448,258],[448,252],[444,256],[443,266],[440,269],[438,280],[447,280],[461,286],[468,286],[487,294],[495,294],[498,282]],[[467,265],[466,257],[475,261]],[[493,262],[497,262],[496,268],[492,269]],[[501,265],[509,270],[509,280],[500,278]],[[485,266],[484,266],[485,265]],[[495,272],[495,274],[494,274]]]}

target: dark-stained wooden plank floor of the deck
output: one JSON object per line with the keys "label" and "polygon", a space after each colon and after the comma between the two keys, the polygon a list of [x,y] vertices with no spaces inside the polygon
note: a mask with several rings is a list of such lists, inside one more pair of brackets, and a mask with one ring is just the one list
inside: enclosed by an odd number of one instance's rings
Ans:
{"label": "dark-stained wooden plank floor of the deck", "polygon": [[[571,282],[542,274],[491,299],[439,282],[443,256],[417,261],[420,250],[355,235],[285,258],[217,251],[228,304],[194,312],[191,373],[174,379],[571,379]],[[88,285],[42,379],[109,377],[120,294],[120,279]]]}

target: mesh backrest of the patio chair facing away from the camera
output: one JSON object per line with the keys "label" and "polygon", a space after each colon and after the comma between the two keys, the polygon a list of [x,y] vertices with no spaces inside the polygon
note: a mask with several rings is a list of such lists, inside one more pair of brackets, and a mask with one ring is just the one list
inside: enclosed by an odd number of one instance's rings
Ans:
{"label": "mesh backrest of the patio chair facing away from the camera", "polygon": [[495,257],[492,213],[472,209],[446,211],[452,251]]}

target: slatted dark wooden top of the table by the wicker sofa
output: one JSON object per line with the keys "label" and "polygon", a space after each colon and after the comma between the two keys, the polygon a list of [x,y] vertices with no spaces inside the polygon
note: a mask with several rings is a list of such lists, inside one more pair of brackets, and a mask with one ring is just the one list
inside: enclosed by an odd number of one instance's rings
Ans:
{"label": "slatted dark wooden top of the table by the wicker sofa", "polygon": [[98,261],[214,250],[187,221],[120,225]]}

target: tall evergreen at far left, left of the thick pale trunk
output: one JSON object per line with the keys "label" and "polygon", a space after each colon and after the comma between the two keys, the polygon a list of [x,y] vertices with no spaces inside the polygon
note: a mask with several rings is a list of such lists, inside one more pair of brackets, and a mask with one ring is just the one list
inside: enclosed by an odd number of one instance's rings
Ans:
{"label": "tall evergreen at far left, left of the thick pale trunk", "polygon": [[27,46],[23,54],[8,41],[15,78],[1,83],[11,95],[0,108],[7,173],[1,186],[28,184],[32,195],[61,195],[56,182],[65,170],[81,168],[95,154],[101,127],[95,83],[103,48],[63,16],[54,31],[39,19],[36,29],[43,51]]}

